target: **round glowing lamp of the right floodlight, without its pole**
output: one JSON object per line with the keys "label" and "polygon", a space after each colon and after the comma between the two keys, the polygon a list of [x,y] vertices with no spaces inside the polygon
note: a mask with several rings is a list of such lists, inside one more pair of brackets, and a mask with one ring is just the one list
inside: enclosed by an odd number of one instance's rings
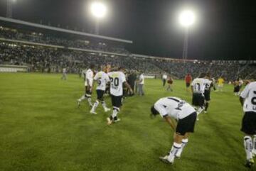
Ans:
{"label": "round glowing lamp of the right floodlight, without its pole", "polygon": [[181,26],[189,27],[193,25],[193,23],[195,22],[195,18],[196,17],[193,11],[186,10],[181,12],[178,19],[179,19],[179,22],[181,23]]}

